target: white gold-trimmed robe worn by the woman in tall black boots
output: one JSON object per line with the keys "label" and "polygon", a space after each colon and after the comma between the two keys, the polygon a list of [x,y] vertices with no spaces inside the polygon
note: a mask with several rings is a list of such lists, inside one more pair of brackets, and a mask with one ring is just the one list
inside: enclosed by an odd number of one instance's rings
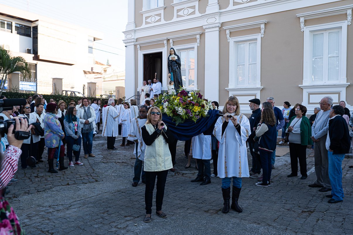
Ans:
{"label": "white gold-trimmed robe worn by the woman in tall black boots", "polygon": [[245,115],[236,116],[240,125],[240,134],[229,120],[226,130],[222,135],[222,124],[225,118],[219,117],[214,136],[220,141],[217,171],[220,178],[224,177],[249,177],[247,163],[246,140],[251,133],[250,122]]}

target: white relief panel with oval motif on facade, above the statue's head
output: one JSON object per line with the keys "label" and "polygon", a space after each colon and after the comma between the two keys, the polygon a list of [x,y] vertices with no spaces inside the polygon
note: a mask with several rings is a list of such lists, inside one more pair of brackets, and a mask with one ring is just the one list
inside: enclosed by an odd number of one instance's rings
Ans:
{"label": "white relief panel with oval motif on facade, above the statue's head", "polygon": [[[180,2],[175,2],[170,5],[174,7],[174,17],[173,20],[180,20],[180,19],[186,19],[187,18],[192,18],[192,17],[198,17],[201,16],[201,14],[198,11],[198,2],[199,0],[185,0],[185,1],[180,1]],[[190,7],[195,6],[195,9],[192,9]],[[179,11],[181,10],[181,11]],[[178,13],[179,11],[179,13]],[[195,11],[195,14],[190,15]],[[183,17],[177,17],[177,16],[183,16]]]}

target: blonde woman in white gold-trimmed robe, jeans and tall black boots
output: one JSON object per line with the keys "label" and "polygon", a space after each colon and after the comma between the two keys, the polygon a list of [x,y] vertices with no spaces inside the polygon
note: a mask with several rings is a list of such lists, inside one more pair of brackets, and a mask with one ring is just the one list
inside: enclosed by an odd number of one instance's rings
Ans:
{"label": "blonde woman in white gold-trimmed robe, jeans and tall black boots", "polygon": [[226,101],[223,114],[218,118],[213,132],[220,142],[217,171],[218,176],[222,178],[224,200],[222,212],[229,212],[232,178],[231,208],[242,212],[243,209],[238,205],[238,199],[241,190],[241,177],[249,177],[246,140],[251,133],[250,122],[245,115],[240,113],[239,101],[234,96],[229,97]]}

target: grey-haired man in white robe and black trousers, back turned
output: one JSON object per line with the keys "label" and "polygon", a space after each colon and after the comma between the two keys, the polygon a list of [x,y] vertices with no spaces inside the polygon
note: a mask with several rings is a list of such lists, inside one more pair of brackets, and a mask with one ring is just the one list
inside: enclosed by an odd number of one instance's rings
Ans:
{"label": "grey-haired man in white robe and black trousers, back turned", "polygon": [[104,114],[104,122],[103,122],[103,131],[102,131],[102,136],[107,137],[107,149],[109,150],[117,150],[116,147],[114,147],[115,144],[115,138],[119,135],[118,130],[118,112],[116,112],[116,109],[114,108],[115,106],[115,101],[113,98],[110,98],[108,100],[108,105],[107,107],[104,108],[103,112]]}

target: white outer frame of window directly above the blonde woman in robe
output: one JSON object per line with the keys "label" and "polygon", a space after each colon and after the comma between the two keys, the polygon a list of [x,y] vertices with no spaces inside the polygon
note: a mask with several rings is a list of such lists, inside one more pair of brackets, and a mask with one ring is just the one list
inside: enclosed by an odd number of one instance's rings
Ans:
{"label": "white outer frame of window directly above the blonde woman in robe", "polygon": [[[244,85],[238,85],[237,79],[237,47],[236,45],[240,42],[256,41],[256,83],[248,84],[249,78],[245,80]],[[259,88],[261,87],[261,34],[246,35],[240,37],[229,38],[229,84],[228,88]]]}

